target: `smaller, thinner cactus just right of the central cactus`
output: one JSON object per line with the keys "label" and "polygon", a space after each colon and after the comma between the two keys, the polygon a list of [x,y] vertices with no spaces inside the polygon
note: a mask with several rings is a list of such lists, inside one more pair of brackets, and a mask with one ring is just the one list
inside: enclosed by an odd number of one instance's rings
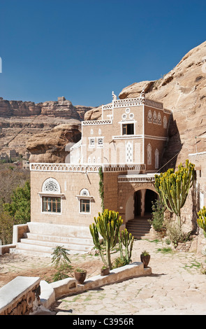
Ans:
{"label": "smaller, thinner cactus just right of the central cactus", "polygon": [[[120,257],[122,258],[122,260],[126,259],[127,264],[131,261],[133,241],[134,237],[131,235],[131,233],[128,233],[128,230],[126,230],[126,228],[119,232]],[[125,247],[125,255],[123,253],[122,245]]]}

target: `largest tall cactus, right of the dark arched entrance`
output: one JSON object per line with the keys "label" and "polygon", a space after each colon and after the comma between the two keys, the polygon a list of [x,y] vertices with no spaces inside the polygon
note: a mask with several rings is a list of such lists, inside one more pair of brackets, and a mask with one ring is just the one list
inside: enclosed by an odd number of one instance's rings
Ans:
{"label": "largest tall cactus, right of the dark arched entrance", "polygon": [[194,167],[195,165],[186,160],[186,167],[183,167],[181,163],[177,172],[174,169],[168,169],[165,173],[155,175],[156,191],[165,207],[177,215],[180,230],[182,228],[181,209],[186,202],[189,189],[193,186]]}

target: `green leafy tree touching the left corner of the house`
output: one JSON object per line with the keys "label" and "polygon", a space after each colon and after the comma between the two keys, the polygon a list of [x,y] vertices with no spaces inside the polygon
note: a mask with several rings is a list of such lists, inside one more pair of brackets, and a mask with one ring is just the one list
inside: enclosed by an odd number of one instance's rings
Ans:
{"label": "green leafy tree touching the left corner of the house", "polygon": [[18,224],[27,223],[31,219],[30,184],[26,181],[23,187],[18,186],[11,195],[11,202],[3,204],[3,209],[13,216]]}

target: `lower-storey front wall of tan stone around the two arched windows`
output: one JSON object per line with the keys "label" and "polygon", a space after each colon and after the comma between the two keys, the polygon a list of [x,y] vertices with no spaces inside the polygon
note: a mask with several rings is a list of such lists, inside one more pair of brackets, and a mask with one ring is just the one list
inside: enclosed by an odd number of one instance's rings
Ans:
{"label": "lower-storey front wall of tan stone around the two arched windows", "polygon": [[[55,179],[61,188],[61,213],[42,211],[42,186],[46,179]],[[80,191],[86,188],[91,198],[91,210],[80,213]],[[101,197],[98,192],[98,172],[41,172],[31,171],[31,222],[59,225],[89,226],[94,216],[101,211]],[[50,195],[50,196],[54,196]]]}

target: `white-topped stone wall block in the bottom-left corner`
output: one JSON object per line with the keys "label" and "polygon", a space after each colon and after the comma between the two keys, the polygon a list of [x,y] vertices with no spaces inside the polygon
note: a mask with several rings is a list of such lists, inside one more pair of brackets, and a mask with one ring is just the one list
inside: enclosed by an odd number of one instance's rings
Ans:
{"label": "white-topped stone wall block in the bottom-left corner", "polygon": [[0,289],[0,315],[31,314],[40,302],[41,278],[17,276]]}

